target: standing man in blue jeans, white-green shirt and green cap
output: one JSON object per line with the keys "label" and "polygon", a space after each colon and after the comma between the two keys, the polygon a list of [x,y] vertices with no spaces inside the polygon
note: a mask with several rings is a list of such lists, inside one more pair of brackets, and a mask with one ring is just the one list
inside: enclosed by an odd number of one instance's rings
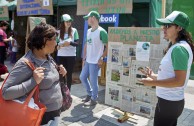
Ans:
{"label": "standing man in blue jeans, white-green shirt and green cap", "polygon": [[83,68],[80,74],[80,80],[87,91],[87,97],[82,101],[86,106],[92,106],[97,104],[98,71],[107,55],[108,34],[99,26],[100,15],[97,11],[91,11],[83,18],[88,20],[91,28],[87,31],[83,51]]}

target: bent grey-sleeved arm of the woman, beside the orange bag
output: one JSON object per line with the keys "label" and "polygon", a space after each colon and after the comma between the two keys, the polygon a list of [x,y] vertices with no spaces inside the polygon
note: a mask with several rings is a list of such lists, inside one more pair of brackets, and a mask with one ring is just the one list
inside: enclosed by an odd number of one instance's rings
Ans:
{"label": "bent grey-sleeved arm of the woman, beside the orange bag", "polygon": [[2,95],[5,100],[13,100],[26,95],[36,86],[32,70],[24,63],[19,61],[11,71],[6,80]]}

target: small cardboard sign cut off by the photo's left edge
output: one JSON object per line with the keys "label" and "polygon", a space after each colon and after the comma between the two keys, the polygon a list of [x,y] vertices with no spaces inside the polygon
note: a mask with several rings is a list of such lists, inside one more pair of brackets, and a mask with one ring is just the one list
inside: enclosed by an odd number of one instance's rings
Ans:
{"label": "small cardboard sign cut off by the photo's left edge", "polygon": [[9,11],[7,6],[0,6],[0,21],[9,20]]}

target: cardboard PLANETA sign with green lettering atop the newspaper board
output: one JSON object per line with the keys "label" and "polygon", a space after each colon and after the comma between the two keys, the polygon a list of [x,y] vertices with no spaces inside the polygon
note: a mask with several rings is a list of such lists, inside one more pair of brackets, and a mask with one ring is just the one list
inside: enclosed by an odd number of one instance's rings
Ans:
{"label": "cardboard PLANETA sign with green lettering atop the newspaper board", "polygon": [[118,27],[109,28],[109,41],[135,45],[137,41],[160,44],[160,28]]}

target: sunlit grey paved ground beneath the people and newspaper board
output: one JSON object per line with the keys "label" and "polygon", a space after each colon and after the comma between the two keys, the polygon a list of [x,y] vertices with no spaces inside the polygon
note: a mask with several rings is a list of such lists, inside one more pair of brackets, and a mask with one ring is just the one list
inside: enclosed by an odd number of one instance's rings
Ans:
{"label": "sunlit grey paved ground beneath the people and newspaper board", "polygon": [[[9,70],[12,68],[6,62]],[[0,85],[2,82],[0,82]],[[82,84],[72,85],[73,104],[61,114],[59,126],[152,126],[153,119],[134,115],[124,123],[117,122],[119,113],[111,106],[105,105],[105,86],[99,87],[99,104],[85,107],[81,99],[86,96]],[[168,114],[168,113],[167,113]],[[194,81],[189,80],[185,91],[185,108],[178,120],[178,126],[194,126]]]}

